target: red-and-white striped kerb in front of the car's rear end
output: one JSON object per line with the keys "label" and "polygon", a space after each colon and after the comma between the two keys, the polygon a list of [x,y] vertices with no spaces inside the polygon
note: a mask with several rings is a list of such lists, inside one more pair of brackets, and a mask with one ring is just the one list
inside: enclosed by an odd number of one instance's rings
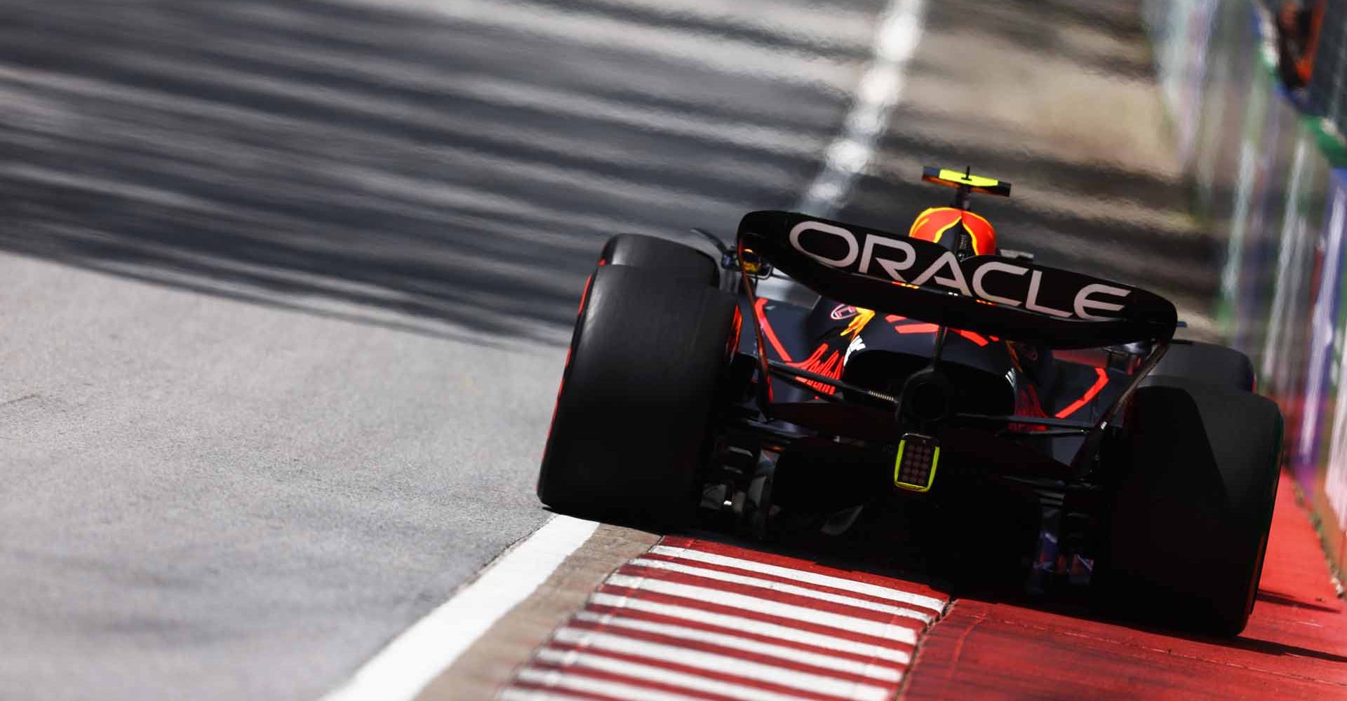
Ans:
{"label": "red-and-white striped kerb in front of the car's rear end", "polygon": [[668,537],[610,575],[500,698],[882,701],[947,603],[892,577]]}

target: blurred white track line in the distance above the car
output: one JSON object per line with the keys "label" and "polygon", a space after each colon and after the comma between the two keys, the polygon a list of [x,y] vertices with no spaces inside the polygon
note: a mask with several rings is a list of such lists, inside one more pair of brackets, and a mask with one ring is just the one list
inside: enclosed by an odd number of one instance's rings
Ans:
{"label": "blurred white track line in the distance above the car", "polygon": [[924,0],[890,0],[874,32],[874,62],[855,91],[842,133],[828,145],[823,170],[795,209],[831,217],[846,203],[855,180],[874,161],[876,144],[889,124],[889,112],[907,87],[908,63],[921,40]]}

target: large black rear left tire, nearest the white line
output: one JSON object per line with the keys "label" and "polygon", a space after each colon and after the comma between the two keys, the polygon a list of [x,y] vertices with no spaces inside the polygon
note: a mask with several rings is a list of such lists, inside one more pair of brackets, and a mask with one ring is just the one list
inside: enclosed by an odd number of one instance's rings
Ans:
{"label": "large black rear left tire, nearest the white line", "polygon": [[599,266],[571,338],[539,499],[601,519],[690,522],[737,312],[733,295],[700,280]]}

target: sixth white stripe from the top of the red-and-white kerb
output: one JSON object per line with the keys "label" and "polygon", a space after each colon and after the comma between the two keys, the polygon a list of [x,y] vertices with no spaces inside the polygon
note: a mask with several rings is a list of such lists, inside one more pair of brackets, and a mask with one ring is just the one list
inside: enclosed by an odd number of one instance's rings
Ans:
{"label": "sixth white stripe from the top of the red-and-white kerb", "polygon": [[715,653],[703,653],[691,647],[652,643],[649,640],[617,635],[614,632],[593,631],[587,628],[562,628],[552,635],[552,643],[575,644],[586,651],[634,655],[661,665],[680,665],[707,671],[735,674],[750,679],[762,679],[780,686],[791,686],[801,692],[828,694],[842,698],[855,698],[857,701],[884,701],[889,696],[889,689],[884,686],[799,671],[777,665],[749,662],[748,659],[719,655]]}

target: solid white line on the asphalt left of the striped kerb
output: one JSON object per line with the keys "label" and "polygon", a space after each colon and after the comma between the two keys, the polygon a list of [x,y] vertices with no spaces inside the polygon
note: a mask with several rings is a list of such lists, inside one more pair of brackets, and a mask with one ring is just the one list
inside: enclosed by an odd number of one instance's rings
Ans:
{"label": "solid white line on the asphalt left of the striped kerb", "polygon": [[411,701],[585,544],[598,523],[558,515],[388,643],[323,701]]}

